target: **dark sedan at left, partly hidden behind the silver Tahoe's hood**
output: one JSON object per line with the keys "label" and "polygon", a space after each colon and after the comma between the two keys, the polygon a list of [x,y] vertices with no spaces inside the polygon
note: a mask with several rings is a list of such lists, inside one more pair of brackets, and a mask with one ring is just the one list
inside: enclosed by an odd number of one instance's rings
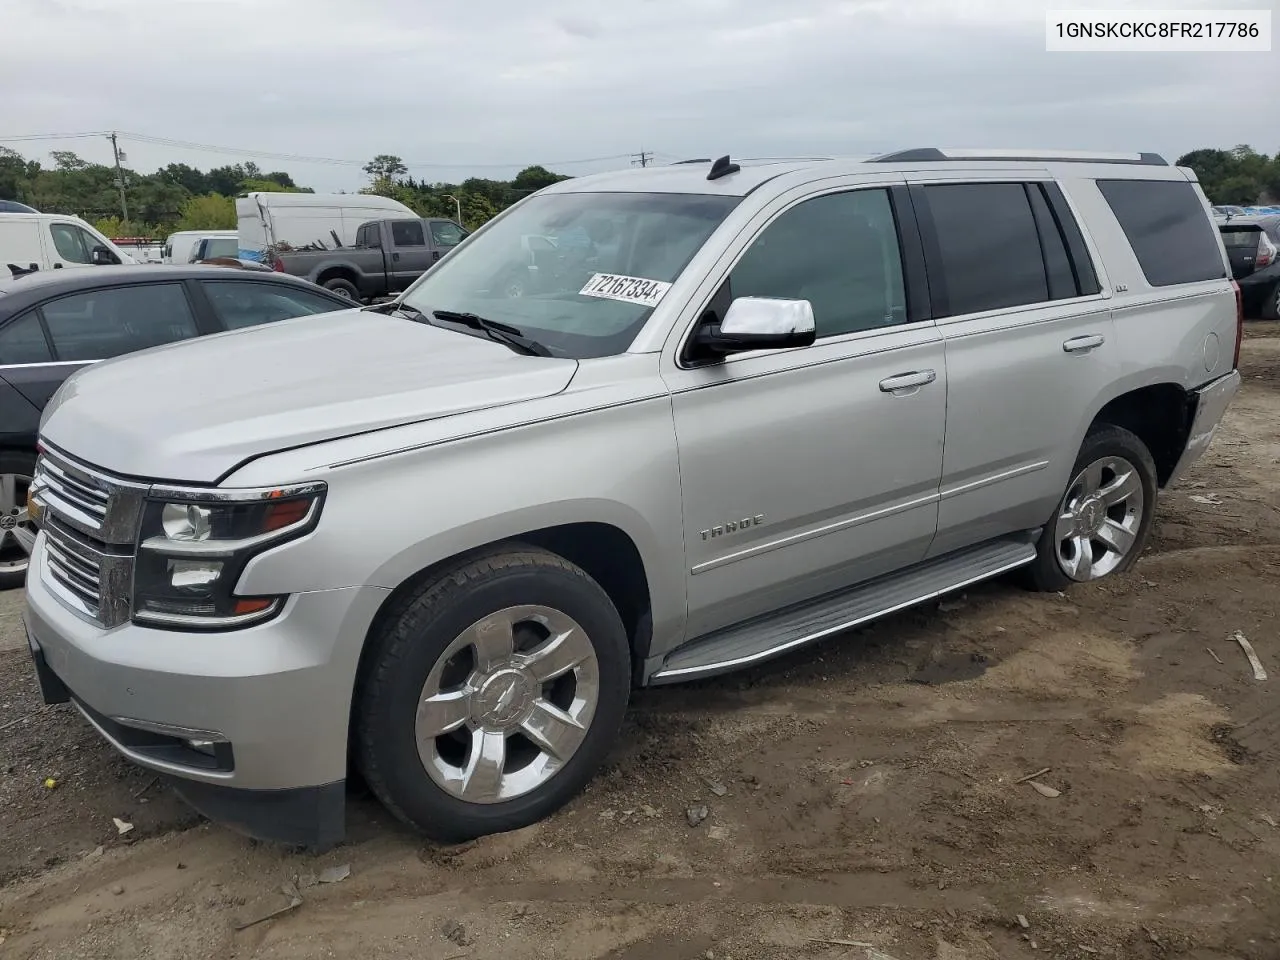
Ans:
{"label": "dark sedan at left, partly hidden behind the silver Tahoe's hood", "polygon": [[0,284],[0,588],[27,573],[36,430],[63,380],[147,347],[346,306],[306,280],[216,266],[41,270]]}

